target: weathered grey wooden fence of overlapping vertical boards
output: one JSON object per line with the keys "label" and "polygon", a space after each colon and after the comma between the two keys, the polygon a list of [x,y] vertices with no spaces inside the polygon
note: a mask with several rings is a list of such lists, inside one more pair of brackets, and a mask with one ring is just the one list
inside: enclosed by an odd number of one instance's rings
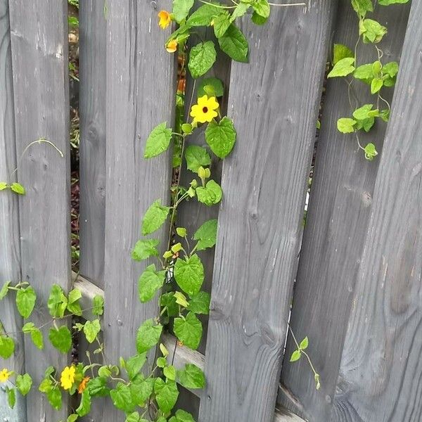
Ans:
{"label": "weathered grey wooden fence of overlapping vertical boards", "polygon": [[[67,1],[0,0],[0,180],[17,178],[27,189],[20,198],[0,192],[0,284],[30,281],[44,305],[53,283],[77,286],[84,301],[104,295],[111,360],[134,350],[128,334],[158,312],[153,302],[139,303],[134,286],[145,264],[133,262],[130,251],[147,207],[158,197],[170,202],[170,155],[153,163],[142,158],[151,129],[174,120],[177,63],[162,48],[168,33],[155,24],[157,12],[170,7],[168,0],[107,0],[106,7],[80,0],[81,260],[75,277]],[[378,140],[379,155],[367,162],[352,136],[336,129],[338,117],[350,114],[344,82],[328,81],[305,229],[328,53],[333,41],[356,39],[350,0],[275,8],[264,27],[245,20],[249,63],[223,58],[216,67],[238,129],[234,154],[214,163],[224,199],[219,210],[189,205],[178,217],[188,231],[219,218],[215,252],[203,252],[212,293],[206,342],[198,352],[177,347],[174,356],[176,366],[205,367],[205,390],[196,390],[198,397],[186,390],[181,399],[200,422],[422,418],[422,3],[377,8],[375,15],[390,30],[383,51],[402,63],[390,122],[368,135]],[[374,60],[363,50],[366,59]],[[187,89],[193,89],[190,80]],[[65,159],[37,146],[13,173],[25,147],[41,137]],[[202,145],[203,138],[192,142]],[[6,331],[18,332],[23,321],[13,303],[6,298],[0,305]],[[44,308],[36,321],[47,318]],[[288,362],[294,350],[289,318],[294,333],[309,337],[319,391],[304,359]],[[31,373],[35,383],[49,364],[68,364],[53,348],[39,352],[15,337],[22,347],[7,365]],[[174,350],[172,335],[163,341]],[[53,411],[37,388],[13,411],[5,396],[0,390],[1,421],[67,417],[67,409]],[[120,420],[109,404],[96,405],[85,418]]]}

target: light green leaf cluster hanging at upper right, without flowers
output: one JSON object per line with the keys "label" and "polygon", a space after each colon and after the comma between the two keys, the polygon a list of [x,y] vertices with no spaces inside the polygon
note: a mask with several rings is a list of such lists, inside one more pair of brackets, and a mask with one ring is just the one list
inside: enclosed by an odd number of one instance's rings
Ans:
{"label": "light green leaf cluster hanging at upper right, without flowers", "polygon": [[[390,4],[404,4],[409,0],[379,0],[381,6]],[[352,117],[340,117],[337,122],[338,130],[343,134],[354,133],[357,138],[359,148],[364,151],[366,160],[373,160],[378,155],[373,142],[362,146],[359,143],[359,131],[369,132],[376,122],[376,118],[383,122],[388,122],[390,117],[390,104],[381,96],[381,89],[395,86],[399,65],[397,62],[382,63],[383,52],[376,46],[385,34],[387,28],[376,20],[367,18],[368,13],[373,12],[372,0],[352,0],[352,7],[359,17],[359,41],[364,44],[373,44],[376,49],[378,59],[373,63],[357,65],[357,48],[352,51],[343,44],[334,44],[333,68],[328,73],[328,77],[349,77],[349,87],[353,80],[358,80],[369,86],[371,94],[376,96],[376,105],[364,104],[364,106],[352,110]],[[385,108],[380,109],[380,103]],[[352,102],[350,101],[350,104]]]}

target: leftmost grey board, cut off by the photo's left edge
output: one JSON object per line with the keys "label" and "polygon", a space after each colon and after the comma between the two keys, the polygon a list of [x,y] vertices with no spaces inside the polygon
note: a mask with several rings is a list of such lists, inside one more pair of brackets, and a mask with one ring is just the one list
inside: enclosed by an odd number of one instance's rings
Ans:
{"label": "leftmost grey board, cut off by the photo's left edge", "polygon": [[[0,181],[11,183],[15,181],[11,173],[16,167],[16,147],[8,0],[0,0],[0,92]],[[6,281],[20,281],[18,196],[8,190],[0,191],[0,286]],[[0,358],[0,368],[22,373],[25,368],[23,336],[17,332],[22,327],[22,318],[16,310],[14,293],[0,302],[0,324],[5,331],[13,333],[11,337],[16,345],[10,359]],[[11,410],[6,392],[0,389],[0,415],[10,422],[25,422],[25,400]]]}

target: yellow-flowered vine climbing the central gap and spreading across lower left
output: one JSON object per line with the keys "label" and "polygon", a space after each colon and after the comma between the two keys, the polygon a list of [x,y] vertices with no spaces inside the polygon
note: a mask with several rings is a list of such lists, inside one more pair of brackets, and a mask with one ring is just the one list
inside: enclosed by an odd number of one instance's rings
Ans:
{"label": "yellow-flowered vine climbing the central gap and spreading across lower left", "polygon": [[[177,383],[186,388],[203,388],[205,376],[193,364],[186,364],[184,369],[177,370],[169,362],[169,352],[160,343],[164,326],[170,326],[179,342],[196,350],[203,334],[203,327],[198,314],[210,312],[210,294],[202,290],[204,268],[198,252],[213,248],[217,238],[217,220],[212,219],[198,227],[195,233],[187,233],[184,227],[176,224],[177,209],[183,201],[198,200],[207,206],[217,205],[222,200],[222,188],[212,179],[211,154],[224,159],[231,153],[236,143],[236,129],[229,117],[220,113],[218,98],[223,94],[222,82],[216,78],[206,78],[204,75],[212,68],[217,57],[214,41],[200,41],[190,50],[186,44],[189,37],[196,33],[197,27],[212,27],[220,49],[233,60],[246,62],[248,60],[248,41],[236,26],[236,19],[250,13],[252,22],[263,25],[270,14],[270,6],[298,6],[302,4],[270,4],[267,0],[241,0],[232,6],[217,2],[200,0],[200,7],[191,13],[193,0],[174,0],[172,13],[160,11],[158,24],[163,29],[172,21],[179,27],[165,44],[169,53],[178,51],[195,82],[198,84],[198,98],[194,104],[189,104],[190,118],[183,120],[183,101],[179,97],[177,119],[174,129],[162,122],[156,126],[146,140],[144,156],[152,159],[167,151],[174,144],[174,167],[177,174],[183,170],[191,172],[192,180],[188,186],[177,184],[172,186],[172,204],[161,203],[158,198],[148,208],[142,219],[141,238],[132,250],[132,258],[136,261],[155,259],[139,276],[139,300],[147,302],[157,300],[160,303],[160,315],[156,319],[144,321],[136,333],[136,354],[127,359],[120,358],[118,364],[107,363],[104,345],[98,338],[101,331],[100,316],[103,314],[103,299],[94,298],[91,307],[92,320],[82,324],[75,320],[75,332],[83,332],[89,343],[96,343],[98,348],[94,353],[101,354],[103,364],[88,365],[72,363],[63,369],[49,366],[44,379],[38,386],[32,386],[30,374],[16,374],[8,369],[0,371],[0,383],[14,381],[7,387],[8,401],[11,407],[15,405],[16,393],[27,395],[31,388],[46,395],[54,409],[62,407],[63,395],[80,395],[79,406],[68,416],[67,422],[74,422],[79,417],[89,414],[91,400],[96,397],[109,397],[117,409],[126,415],[126,422],[192,422],[193,416],[186,411],[177,409],[179,391]],[[346,57],[345,57],[346,58]],[[184,69],[182,69],[182,73]],[[193,102],[193,101],[192,101]],[[205,141],[207,148],[187,145],[186,139],[202,124],[206,125]],[[46,143],[50,141],[40,140]],[[32,145],[32,144],[30,144]],[[51,143],[52,146],[53,143]],[[29,147],[29,146],[28,146]],[[26,151],[26,150],[25,150]],[[25,152],[24,151],[24,152]],[[59,151],[60,152],[60,151]],[[61,153],[60,153],[61,154]],[[63,156],[63,154],[62,154]],[[0,189],[12,188],[6,182],[0,184]],[[23,187],[22,187],[23,188]],[[19,189],[18,189],[19,190]],[[17,192],[17,193],[25,193]],[[167,245],[159,245],[157,239],[150,235],[160,229],[163,224],[169,224]],[[178,241],[174,241],[177,236]],[[163,254],[160,250],[165,250]],[[6,282],[0,290],[0,300],[15,292],[15,302],[18,312],[23,318],[29,319],[37,302],[34,289],[27,282]],[[29,335],[32,342],[40,350],[44,348],[42,330],[49,328],[49,341],[56,349],[67,354],[72,347],[72,333],[67,326],[60,326],[63,319],[82,316],[79,305],[82,297],[79,290],[71,290],[68,295],[58,285],[51,287],[47,307],[51,320],[41,326],[35,326],[27,321],[23,333]],[[85,311],[89,309],[84,309]],[[13,333],[7,333],[0,326],[0,357],[8,359],[15,350]],[[296,340],[295,340],[296,341]],[[316,373],[309,355],[305,350],[308,340],[304,338],[298,350],[290,358],[295,362],[302,355],[307,357],[314,373],[316,388],[319,388],[319,374]],[[148,352],[158,345],[155,365],[151,373],[143,373]]]}

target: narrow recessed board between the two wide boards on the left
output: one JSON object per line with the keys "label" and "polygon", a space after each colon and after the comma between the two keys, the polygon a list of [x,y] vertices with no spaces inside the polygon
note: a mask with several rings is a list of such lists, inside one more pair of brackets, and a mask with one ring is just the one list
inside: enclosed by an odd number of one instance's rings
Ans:
{"label": "narrow recessed board between the two wide boards on the left", "polygon": [[79,2],[79,272],[104,287],[106,39],[102,1]]}

